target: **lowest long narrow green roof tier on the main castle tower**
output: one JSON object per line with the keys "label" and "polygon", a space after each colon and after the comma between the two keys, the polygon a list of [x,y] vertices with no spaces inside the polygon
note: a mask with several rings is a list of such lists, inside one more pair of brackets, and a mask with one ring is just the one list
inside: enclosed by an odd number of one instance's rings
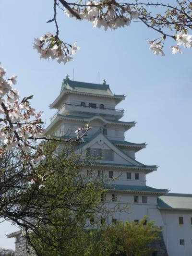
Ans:
{"label": "lowest long narrow green roof tier on the main castle tower", "polygon": [[133,185],[119,185],[119,184],[106,184],[106,189],[133,191],[133,192],[151,192],[151,193],[167,193],[168,189],[157,189],[148,186],[133,186]]}

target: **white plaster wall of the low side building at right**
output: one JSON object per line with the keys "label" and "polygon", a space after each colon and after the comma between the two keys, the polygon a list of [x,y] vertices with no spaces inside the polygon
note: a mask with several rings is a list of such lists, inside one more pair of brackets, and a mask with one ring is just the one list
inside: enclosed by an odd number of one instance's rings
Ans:
{"label": "white plaster wall of the low side building at right", "polygon": [[[192,256],[192,211],[160,210],[165,227],[163,237],[168,256]],[[184,224],[179,224],[183,217]],[[180,245],[184,239],[185,245]]]}

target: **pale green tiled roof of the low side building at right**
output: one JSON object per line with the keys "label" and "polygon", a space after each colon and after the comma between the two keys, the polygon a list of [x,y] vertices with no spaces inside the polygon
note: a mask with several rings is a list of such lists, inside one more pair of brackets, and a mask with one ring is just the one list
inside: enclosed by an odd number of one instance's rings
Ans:
{"label": "pale green tiled roof of the low side building at right", "polygon": [[160,209],[192,210],[192,195],[168,193],[157,198]]}

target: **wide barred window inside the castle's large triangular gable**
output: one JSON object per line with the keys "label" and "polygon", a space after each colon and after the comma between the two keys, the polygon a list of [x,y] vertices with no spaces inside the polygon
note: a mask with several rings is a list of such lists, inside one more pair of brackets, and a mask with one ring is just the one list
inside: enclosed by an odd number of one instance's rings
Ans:
{"label": "wide barred window inside the castle's large triangular gable", "polygon": [[106,161],[114,160],[114,151],[112,149],[89,147],[87,148],[86,155],[87,157],[99,158]]}

